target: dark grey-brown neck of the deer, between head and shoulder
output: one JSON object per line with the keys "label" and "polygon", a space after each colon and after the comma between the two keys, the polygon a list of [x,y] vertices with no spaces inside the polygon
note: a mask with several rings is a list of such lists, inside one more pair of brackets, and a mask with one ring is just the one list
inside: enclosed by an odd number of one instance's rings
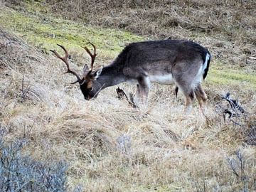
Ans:
{"label": "dark grey-brown neck of the deer, between head and shoulder", "polygon": [[125,78],[122,70],[115,65],[108,65],[102,69],[102,73],[97,78],[97,82],[100,82],[102,89],[110,87],[124,82]]}

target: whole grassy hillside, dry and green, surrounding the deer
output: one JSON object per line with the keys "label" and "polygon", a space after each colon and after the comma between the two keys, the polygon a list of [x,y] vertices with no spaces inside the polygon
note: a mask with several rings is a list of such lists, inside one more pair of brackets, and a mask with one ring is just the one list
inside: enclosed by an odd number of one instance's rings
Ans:
{"label": "whole grassy hillside, dry and green, surrounding the deer", "polygon": [[[34,161],[67,162],[67,191],[255,191],[255,2],[147,2],[0,1],[0,137],[26,139],[21,153]],[[205,114],[195,102],[184,115],[166,85],[152,86],[146,109],[117,99],[117,87],[87,102],[49,51],[63,44],[81,71],[87,41],[100,66],[126,43],[169,37],[213,55]],[[226,92],[245,113],[223,118]]]}

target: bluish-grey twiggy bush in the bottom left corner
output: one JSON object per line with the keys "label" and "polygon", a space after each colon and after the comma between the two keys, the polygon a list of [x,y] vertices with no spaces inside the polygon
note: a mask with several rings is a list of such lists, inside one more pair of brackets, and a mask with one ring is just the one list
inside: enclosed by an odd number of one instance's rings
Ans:
{"label": "bluish-grey twiggy bush in the bottom left corner", "polygon": [[0,134],[0,191],[66,191],[68,165],[64,161],[34,161],[22,156],[26,139],[6,144]]}

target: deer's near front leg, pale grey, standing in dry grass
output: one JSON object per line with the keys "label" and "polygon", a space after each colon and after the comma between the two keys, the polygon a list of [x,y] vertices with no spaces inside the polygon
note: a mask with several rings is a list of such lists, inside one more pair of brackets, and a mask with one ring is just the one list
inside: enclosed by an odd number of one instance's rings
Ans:
{"label": "deer's near front leg, pale grey, standing in dry grass", "polygon": [[137,80],[139,82],[139,85],[137,85],[137,92],[139,93],[139,97],[141,97],[142,102],[146,103],[150,87],[149,77],[146,75],[142,75],[139,76]]}

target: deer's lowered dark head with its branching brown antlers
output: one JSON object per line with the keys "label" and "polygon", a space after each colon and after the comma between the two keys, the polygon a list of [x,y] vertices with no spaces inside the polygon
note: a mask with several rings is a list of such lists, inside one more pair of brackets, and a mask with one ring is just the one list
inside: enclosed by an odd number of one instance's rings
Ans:
{"label": "deer's lowered dark head with its branching brown antlers", "polygon": [[91,98],[97,97],[98,93],[100,92],[100,89],[102,88],[102,85],[99,82],[97,82],[97,78],[100,76],[100,73],[102,73],[102,68],[93,71],[93,64],[97,54],[95,46],[92,43],[90,44],[93,47],[93,53],[91,53],[87,47],[82,47],[91,57],[91,68],[88,68],[87,64],[85,64],[82,70],[82,78],[80,78],[80,75],[78,75],[78,73],[75,73],[75,71],[70,70],[70,66],[68,63],[68,51],[65,49],[64,46],[57,44],[58,46],[60,46],[60,48],[64,50],[64,57],[61,57],[55,50],[50,50],[56,55],[57,58],[63,60],[63,62],[67,66],[67,71],[65,73],[72,73],[76,76],[77,80],[75,82],[72,82],[72,84],[75,84],[76,82],[79,83],[80,89],[85,97],[85,100],[90,100]]}

